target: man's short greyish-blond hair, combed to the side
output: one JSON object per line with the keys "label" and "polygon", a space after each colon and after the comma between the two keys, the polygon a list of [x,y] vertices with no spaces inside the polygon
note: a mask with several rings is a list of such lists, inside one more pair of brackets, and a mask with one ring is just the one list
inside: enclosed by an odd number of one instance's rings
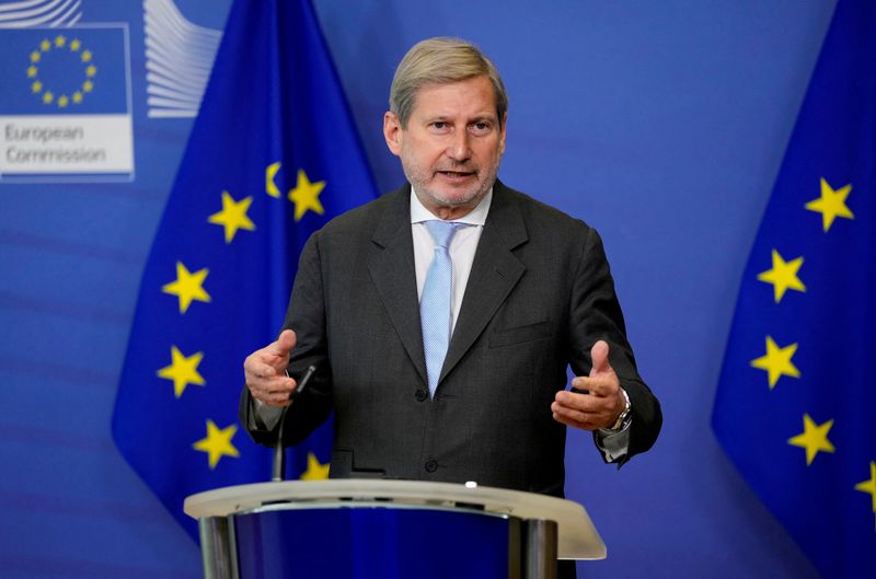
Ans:
{"label": "man's short greyish-blond hair, combed to the side", "polygon": [[415,44],[404,55],[392,79],[390,111],[399,117],[402,128],[406,128],[419,89],[481,76],[489,79],[493,85],[496,116],[502,126],[508,111],[508,95],[499,71],[480,48],[460,38],[428,38]]}

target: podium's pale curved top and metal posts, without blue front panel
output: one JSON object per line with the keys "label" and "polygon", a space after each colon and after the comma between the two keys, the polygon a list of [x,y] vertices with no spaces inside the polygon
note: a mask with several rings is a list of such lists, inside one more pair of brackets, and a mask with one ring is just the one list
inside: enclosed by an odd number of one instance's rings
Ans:
{"label": "podium's pale curved top and metal posts, without blue front panel", "polygon": [[[235,516],[286,509],[420,508],[507,518],[519,530],[522,579],[555,577],[556,559],[607,556],[587,511],[577,502],[502,488],[383,479],[274,482],[219,488],[185,499],[198,520],[206,579],[238,579]],[[517,548],[515,546],[514,548]]]}

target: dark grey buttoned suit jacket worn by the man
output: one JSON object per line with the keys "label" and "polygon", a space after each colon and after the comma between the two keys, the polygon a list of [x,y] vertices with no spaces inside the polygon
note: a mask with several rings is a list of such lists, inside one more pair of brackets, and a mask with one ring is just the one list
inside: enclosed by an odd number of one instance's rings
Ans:
{"label": "dark grey buttoned suit jacket worn by the man", "polygon": [[[496,182],[435,398],[427,394],[411,187],[349,211],[301,255],[285,327],[289,373],[319,372],[286,420],[302,440],[332,410],[331,476],[464,483],[563,496],[566,427],[551,402],[598,339],[630,395],[630,452],[652,447],[659,403],[639,378],[595,230]],[[251,425],[249,392],[241,420]],[[276,433],[250,428],[261,443]]]}

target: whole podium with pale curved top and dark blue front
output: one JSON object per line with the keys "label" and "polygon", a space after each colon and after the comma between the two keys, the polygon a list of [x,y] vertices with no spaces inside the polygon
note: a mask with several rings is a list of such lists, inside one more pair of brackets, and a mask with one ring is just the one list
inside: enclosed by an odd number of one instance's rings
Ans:
{"label": "whole podium with pale curved top and dark blue front", "polygon": [[260,483],[184,510],[206,579],[554,579],[557,559],[606,557],[580,505],[471,483]]}

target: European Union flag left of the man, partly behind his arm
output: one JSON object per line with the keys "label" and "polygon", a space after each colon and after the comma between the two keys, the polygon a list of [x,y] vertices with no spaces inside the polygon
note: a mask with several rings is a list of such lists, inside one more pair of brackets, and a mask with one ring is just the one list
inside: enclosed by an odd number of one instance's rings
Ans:
{"label": "European Union flag left of the man, partly behind his arm", "polygon": [[[270,477],[238,401],[243,359],[280,328],[299,250],[373,198],[310,2],[234,2],[146,266],[113,417],[122,453],[193,536],[187,495]],[[324,477],[330,437],[316,431],[290,464]]]}

